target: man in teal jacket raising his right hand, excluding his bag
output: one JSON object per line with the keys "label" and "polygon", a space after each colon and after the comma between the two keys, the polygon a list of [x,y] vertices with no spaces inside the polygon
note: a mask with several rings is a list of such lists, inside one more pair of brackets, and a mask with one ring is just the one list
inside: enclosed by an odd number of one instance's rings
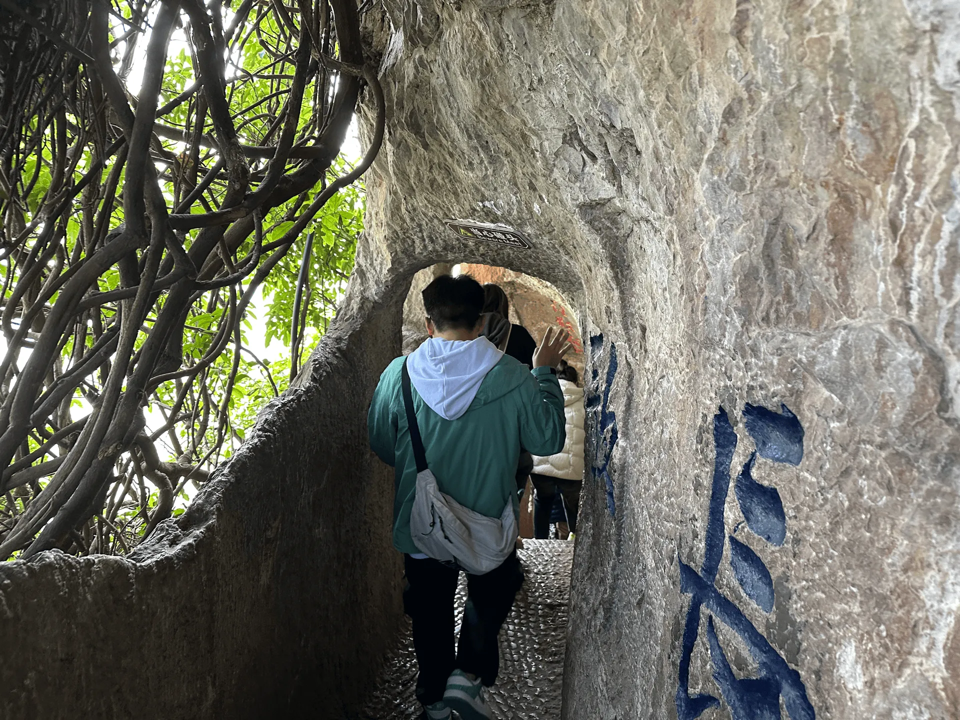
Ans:
{"label": "man in teal jacket raising his right hand, excluding his bag", "polygon": [[380,376],[368,415],[373,451],[394,467],[394,546],[404,554],[404,610],[413,619],[422,717],[486,720],[482,687],[496,680],[496,636],[523,582],[516,552],[484,575],[468,574],[468,601],[454,654],[453,603],[459,568],[428,558],[410,536],[417,466],[401,390],[404,360],[427,466],[441,492],[477,513],[500,517],[516,500],[520,447],[552,455],[564,446],[564,394],[553,369],[569,349],[547,332],[534,369],[479,336],[484,292],[469,276],[440,276],[423,290],[429,337]]}

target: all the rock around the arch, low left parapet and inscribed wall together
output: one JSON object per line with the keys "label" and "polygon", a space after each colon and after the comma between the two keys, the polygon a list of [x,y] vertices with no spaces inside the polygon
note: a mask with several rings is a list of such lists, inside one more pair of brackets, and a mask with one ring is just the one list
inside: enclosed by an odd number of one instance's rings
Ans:
{"label": "all the rock around the arch, low left parapet and inscribed wall together", "polygon": [[129,557],[0,565],[0,715],[362,716],[404,622],[367,407],[416,274],[470,263],[584,340],[564,718],[956,717],[954,11],[386,0],[336,321]]}

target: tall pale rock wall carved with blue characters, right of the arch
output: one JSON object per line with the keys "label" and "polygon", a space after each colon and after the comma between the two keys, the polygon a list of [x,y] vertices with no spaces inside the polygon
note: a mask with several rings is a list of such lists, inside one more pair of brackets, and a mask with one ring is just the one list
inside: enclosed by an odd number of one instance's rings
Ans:
{"label": "tall pale rock wall carved with blue characters, right of the arch", "polygon": [[564,717],[960,716],[957,5],[385,6],[376,262],[590,338]]}

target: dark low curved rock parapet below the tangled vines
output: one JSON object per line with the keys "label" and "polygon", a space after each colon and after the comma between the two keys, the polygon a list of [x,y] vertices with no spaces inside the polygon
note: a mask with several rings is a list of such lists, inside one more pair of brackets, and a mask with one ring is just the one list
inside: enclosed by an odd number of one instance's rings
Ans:
{"label": "dark low curved rock parapet below the tangled vines", "polygon": [[129,558],[0,563],[0,717],[355,716],[402,612],[393,473],[366,432],[401,302],[366,288],[300,387]]}

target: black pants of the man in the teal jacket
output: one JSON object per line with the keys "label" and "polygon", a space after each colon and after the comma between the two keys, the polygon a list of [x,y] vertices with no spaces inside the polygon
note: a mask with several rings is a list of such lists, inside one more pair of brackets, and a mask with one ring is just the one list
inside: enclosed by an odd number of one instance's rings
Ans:
{"label": "black pants of the man in the teal jacket", "polygon": [[453,653],[453,601],[460,571],[427,558],[403,557],[406,587],[403,610],[413,619],[414,650],[420,665],[417,699],[433,705],[444,699],[446,680],[455,669],[480,678],[490,686],[500,670],[496,636],[523,585],[523,569],[516,552],[484,575],[467,575],[467,605]]}

